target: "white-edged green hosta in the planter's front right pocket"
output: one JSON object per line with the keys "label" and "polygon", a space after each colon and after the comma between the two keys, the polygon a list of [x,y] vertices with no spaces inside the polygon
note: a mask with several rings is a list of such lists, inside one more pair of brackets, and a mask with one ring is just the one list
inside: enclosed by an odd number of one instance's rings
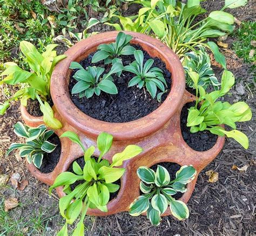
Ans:
{"label": "white-edged green hosta in the planter's front right pocket", "polygon": [[169,172],[161,165],[157,166],[157,172],[142,166],[138,168],[137,175],[140,178],[140,190],[144,193],[130,205],[130,214],[139,216],[146,212],[147,218],[152,225],[159,225],[161,214],[167,207],[178,220],[188,218],[189,211],[184,202],[174,199],[172,196],[177,192],[186,192],[186,184],[196,176],[197,171],[192,165],[181,166],[176,172],[176,178],[170,179]]}

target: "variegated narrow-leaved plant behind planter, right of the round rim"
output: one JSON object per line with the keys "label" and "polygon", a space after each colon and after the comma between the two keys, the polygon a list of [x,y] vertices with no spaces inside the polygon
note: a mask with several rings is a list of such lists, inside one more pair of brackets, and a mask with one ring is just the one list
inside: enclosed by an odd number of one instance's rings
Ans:
{"label": "variegated narrow-leaved plant behind planter, right of the round rim", "polygon": [[194,82],[188,72],[197,72],[199,74],[198,85],[202,86],[204,89],[209,85],[218,89],[220,83],[211,68],[210,57],[206,53],[205,47],[201,45],[197,47],[198,50],[187,52],[184,55],[183,67],[186,72],[186,84],[188,87],[194,88]]}

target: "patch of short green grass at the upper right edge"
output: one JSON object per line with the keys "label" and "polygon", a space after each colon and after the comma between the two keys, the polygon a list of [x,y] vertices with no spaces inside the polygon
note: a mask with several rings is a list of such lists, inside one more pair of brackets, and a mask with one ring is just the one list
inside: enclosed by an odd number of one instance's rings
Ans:
{"label": "patch of short green grass at the upper right edge", "polygon": [[236,37],[236,40],[233,43],[232,49],[239,58],[244,59],[245,63],[253,63],[256,60],[256,53],[254,53],[252,58],[249,57],[249,53],[251,50],[256,50],[251,45],[251,41],[256,40],[256,23],[243,22],[239,29],[234,31],[233,36]]}

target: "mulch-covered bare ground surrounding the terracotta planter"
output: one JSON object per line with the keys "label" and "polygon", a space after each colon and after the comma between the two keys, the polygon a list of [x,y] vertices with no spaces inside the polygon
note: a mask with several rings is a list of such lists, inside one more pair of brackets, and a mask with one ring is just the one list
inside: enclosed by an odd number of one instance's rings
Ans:
{"label": "mulch-covered bare ground surrounding the terracotta planter", "polygon": [[[203,3],[207,10],[220,9],[220,1]],[[223,4],[223,1],[221,2]],[[239,20],[255,20],[252,1],[246,8],[232,10]],[[228,39],[228,40],[235,40]],[[227,40],[227,42],[228,42]],[[131,217],[129,213],[119,213],[109,217],[87,217],[86,235],[255,235],[255,90],[253,72],[250,65],[244,64],[230,47],[223,50],[227,58],[228,70],[237,78],[237,84],[227,95],[230,102],[243,100],[250,105],[254,114],[250,122],[239,124],[238,129],[250,139],[250,148],[245,150],[233,140],[227,140],[224,149],[217,158],[199,175],[196,188],[188,202],[190,218],[177,221],[164,217],[160,226],[151,226],[144,216]],[[220,78],[220,68],[214,67]],[[15,90],[15,89],[14,89]],[[11,91],[15,92],[15,91]],[[2,94],[2,93],[1,93]],[[0,101],[3,101],[3,95]],[[5,152],[12,142],[21,142],[14,134],[12,126],[22,121],[19,103],[13,102],[8,112],[0,117],[0,174],[11,176],[18,172],[22,180],[29,182],[21,191],[15,190],[9,182],[0,187],[0,234],[15,228],[9,235],[56,235],[64,221],[59,216],[58,198],[53,192],[48,194],[48,186],[31,176],[25,162],[12,152],[5,157]],[[232,170],[232,166],[248,165],[247,171]],[[213,170],[219,173],[215,183],[208,182],[206,172]],[[132,191],[128,189],[127,191]],[[4,212],[4,199],[15,197],[19,206]],[[5,224],[4,224],[5,223]]]}

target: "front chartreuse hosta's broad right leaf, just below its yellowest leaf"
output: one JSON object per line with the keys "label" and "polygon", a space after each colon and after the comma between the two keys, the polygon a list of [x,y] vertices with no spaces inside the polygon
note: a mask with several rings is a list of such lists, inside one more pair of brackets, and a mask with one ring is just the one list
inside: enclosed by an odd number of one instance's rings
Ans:
{"label": "front chartreuse hosta's broad right leaf, just below its yellowest leaf", "polygon": [[105,179],[107,184],[117,181],[124,175],[124,172],[124,168],[113,168],[106,166],[102,166],[98,171],[99,178]]}

